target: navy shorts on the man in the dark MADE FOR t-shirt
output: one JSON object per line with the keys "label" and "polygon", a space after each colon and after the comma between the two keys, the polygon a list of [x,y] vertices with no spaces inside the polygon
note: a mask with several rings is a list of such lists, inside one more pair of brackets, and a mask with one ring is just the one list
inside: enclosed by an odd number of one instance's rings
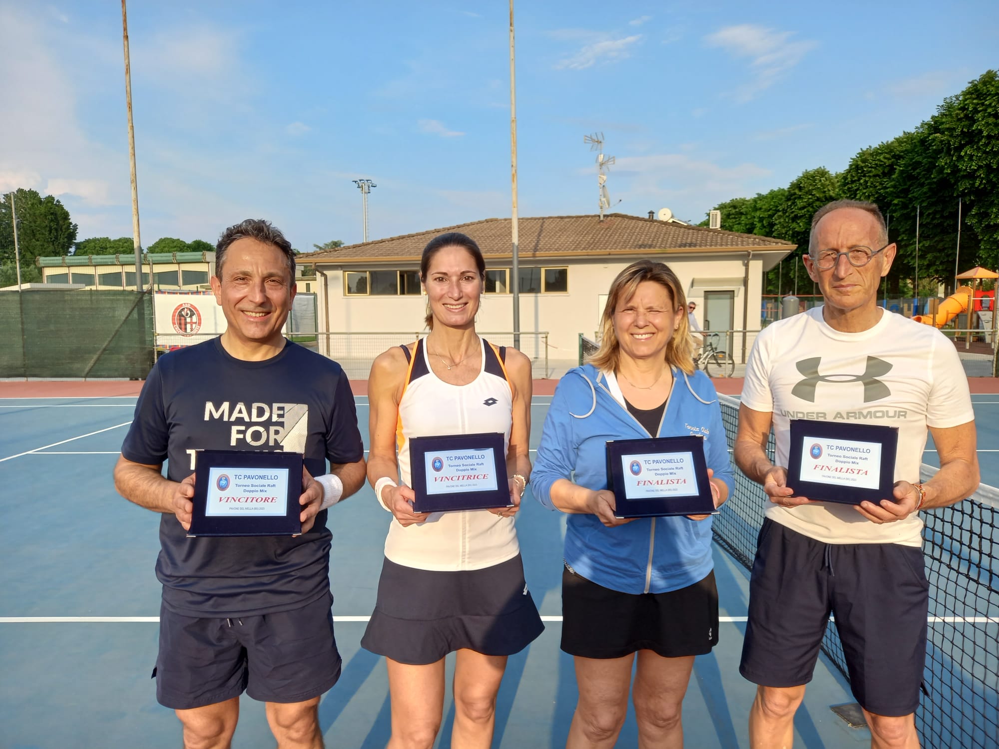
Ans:
{"label": "navy shorts on the man in the dark MADE FOR t-shirt", "polygon": [[164,707],[189,710],[238,697],[303,702],[340,678],[333,597],[255,616],[195,618],[160,606],[153,675]]}

